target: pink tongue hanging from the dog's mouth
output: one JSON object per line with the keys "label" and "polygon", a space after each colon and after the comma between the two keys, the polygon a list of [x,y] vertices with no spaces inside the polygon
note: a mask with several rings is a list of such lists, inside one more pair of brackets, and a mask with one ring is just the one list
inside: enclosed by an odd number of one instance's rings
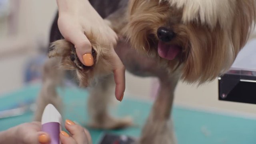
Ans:
{"label": "pink tongue hanging from the dog's mouth", "polygon": [[179,52],[180,48],[176,45],[165,44],[161,41],[158,42],[158,54],[162,58],[173,60]]}

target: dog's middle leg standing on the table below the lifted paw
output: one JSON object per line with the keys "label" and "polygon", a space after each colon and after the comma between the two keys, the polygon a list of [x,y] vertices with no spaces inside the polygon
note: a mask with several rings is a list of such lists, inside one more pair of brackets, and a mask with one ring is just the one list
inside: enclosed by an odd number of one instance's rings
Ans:
{"label": "dog's middle leg standing on the table below the lifted paw", "polygon": [[88,112],[91,118],[89,126],[97,129],[117,129],[131,126],[131,118],[116,119],[108,113],[111,96],[114,95],[113,76],[107,76],[98,81],[94,87],[89,88]]}

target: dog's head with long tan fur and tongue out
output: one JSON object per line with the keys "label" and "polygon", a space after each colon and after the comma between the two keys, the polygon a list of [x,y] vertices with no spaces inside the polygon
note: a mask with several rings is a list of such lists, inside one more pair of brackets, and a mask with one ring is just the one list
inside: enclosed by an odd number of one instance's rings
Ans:
{"label": "dog's head with long tan fur and tongue out", "polygon": [[125,34],[169,69],[182,66],[187,82],[206,82],[230,68],[255,18],[255,0],[131,0]]}

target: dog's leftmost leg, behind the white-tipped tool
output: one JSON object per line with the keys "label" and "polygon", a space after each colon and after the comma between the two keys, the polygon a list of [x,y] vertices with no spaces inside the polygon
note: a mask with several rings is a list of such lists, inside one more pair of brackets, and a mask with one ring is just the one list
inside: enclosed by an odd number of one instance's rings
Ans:
{"label": "dog's leftmost leg, behind the white-tipped tool", "polygon": [[42,88],[37,99],[37,109],[34,120],[41,121],[42,113],[47,104],[53,104],[61,112],[62,101],[57,94],[56,88],[60,86],[63,70],[58,68],[60,58],[50,58],[43,68]]}

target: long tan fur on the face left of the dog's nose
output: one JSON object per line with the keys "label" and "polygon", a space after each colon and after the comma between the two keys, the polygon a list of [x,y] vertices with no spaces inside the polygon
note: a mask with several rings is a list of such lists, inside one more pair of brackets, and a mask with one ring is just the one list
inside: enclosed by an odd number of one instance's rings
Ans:
{"label": "long tan fur on the face left of the dog's nose", "polygon": [[158,26],[164,24],[166,14],[169,12],[168,8],[168,5],[159,5],[156,0],[151,2],[131,0],[128,12],[129,22],[123,33],[134,48],[155,55],[154,51],[150,49],[150,45],[157,45],[157,43],[154,43],[154,37],[149,38],[149,36],[150,34],[154,36]]}

